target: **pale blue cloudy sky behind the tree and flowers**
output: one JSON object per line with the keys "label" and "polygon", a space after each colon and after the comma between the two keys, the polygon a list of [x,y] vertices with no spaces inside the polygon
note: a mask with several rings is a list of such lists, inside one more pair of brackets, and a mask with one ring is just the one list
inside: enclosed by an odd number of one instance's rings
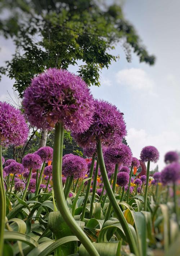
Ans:
{"label": "pale blue cloudy sky behind the tree and flowers", "polygon": [[[138,31],[150,54],[156,55],[156,64],[139,63],[132,53],[127,63],[121,45],[114,54],[120,60],[112,63],[101,74],[101,86],[91,87],[94,98],[105,99],[124,113],[127,125],[127,143],[139,158],[144,146],[159,150],[159,170],[165,166],[167,151],[180,150],[180,1],[126,0],[123,12]],[[14,53],[11,40],[0,37],[0,66]],[[72,72],[77,67],[70,67]],[[13,80],[3,76],[0,82],[0,101],[13,95]]]}

